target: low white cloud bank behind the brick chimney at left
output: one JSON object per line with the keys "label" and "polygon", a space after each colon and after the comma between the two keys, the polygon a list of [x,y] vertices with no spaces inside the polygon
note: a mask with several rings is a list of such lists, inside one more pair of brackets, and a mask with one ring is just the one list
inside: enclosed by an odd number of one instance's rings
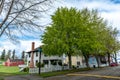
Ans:
{"label": "low white cloud bank behind the brick chimney at left", "polygon": [[3,51],[3,49],[5,49],[6,51],[15,49],[16,55],[19,56],[21,55],[22,51],[27,52],[31,50],[32,42],[35,42],[35,48],[43,45],[40,40],[20,40],[20,44],[13,44],[10,41],[6,40],[4,42],[0,42],[0,53]]}

